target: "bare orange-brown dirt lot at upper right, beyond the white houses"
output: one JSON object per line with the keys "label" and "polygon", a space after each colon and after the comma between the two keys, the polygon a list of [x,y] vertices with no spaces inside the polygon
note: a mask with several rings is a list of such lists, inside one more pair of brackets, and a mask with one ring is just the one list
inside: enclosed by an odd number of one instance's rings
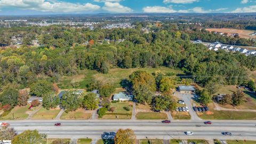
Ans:
{"label": "bare orange-brown dirt lot at upper right, beyond the white houses", "polygon": [[244,29],[232,29],[232,28],[206,28],[208,31],[218,31],[221,33],[230,34],[239,34],[241,38],[256,38],[256,36],[252,36],[251,34],[254,32],[253,30],[244,30]]}

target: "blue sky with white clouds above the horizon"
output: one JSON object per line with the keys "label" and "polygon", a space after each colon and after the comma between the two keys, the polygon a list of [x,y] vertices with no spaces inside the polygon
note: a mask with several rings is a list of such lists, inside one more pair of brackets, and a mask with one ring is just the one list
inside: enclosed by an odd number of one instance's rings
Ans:
{"label": "blue sky with white clouds above the horizon", "polygon": [[230,12],[256,12],[256,0],[0,0],[0,15]]}

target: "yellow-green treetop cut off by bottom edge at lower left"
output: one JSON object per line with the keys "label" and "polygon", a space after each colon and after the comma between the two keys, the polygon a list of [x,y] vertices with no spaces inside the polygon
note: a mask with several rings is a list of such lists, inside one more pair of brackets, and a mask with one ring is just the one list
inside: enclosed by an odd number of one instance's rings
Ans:
{"label": "yellow-green treetop cut off by bottom edge at lower left", "polygon": [[46,143],[46,134],[40,134],[37,130],[26,130],[15,136],[12,140],[14,144],[44,144]]}

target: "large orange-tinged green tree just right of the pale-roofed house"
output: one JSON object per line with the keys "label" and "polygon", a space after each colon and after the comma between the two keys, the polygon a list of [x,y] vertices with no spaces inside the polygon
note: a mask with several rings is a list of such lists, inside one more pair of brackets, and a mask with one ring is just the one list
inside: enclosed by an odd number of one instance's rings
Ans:
{"label": "large orange-tinged green tree just right of the pale-roofed house", "polygon": [[134,71],[130,75],[133,94],[139,103],[150,103],[156,91],[155,78],[146,71]]}

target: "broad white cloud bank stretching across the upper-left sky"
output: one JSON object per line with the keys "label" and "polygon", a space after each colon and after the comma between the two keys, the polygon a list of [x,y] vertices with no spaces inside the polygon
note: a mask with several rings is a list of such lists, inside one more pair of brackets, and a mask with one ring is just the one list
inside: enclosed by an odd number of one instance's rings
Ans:
{"label": "broad white cloud bank stretching across the upper-left sky", "polygon": [[91,3],[75,4],[61,1],[45,0],[0,0],[0,7],[17,7],[23,10],[44,12],[83,12],[99,10],[100,6]]}

